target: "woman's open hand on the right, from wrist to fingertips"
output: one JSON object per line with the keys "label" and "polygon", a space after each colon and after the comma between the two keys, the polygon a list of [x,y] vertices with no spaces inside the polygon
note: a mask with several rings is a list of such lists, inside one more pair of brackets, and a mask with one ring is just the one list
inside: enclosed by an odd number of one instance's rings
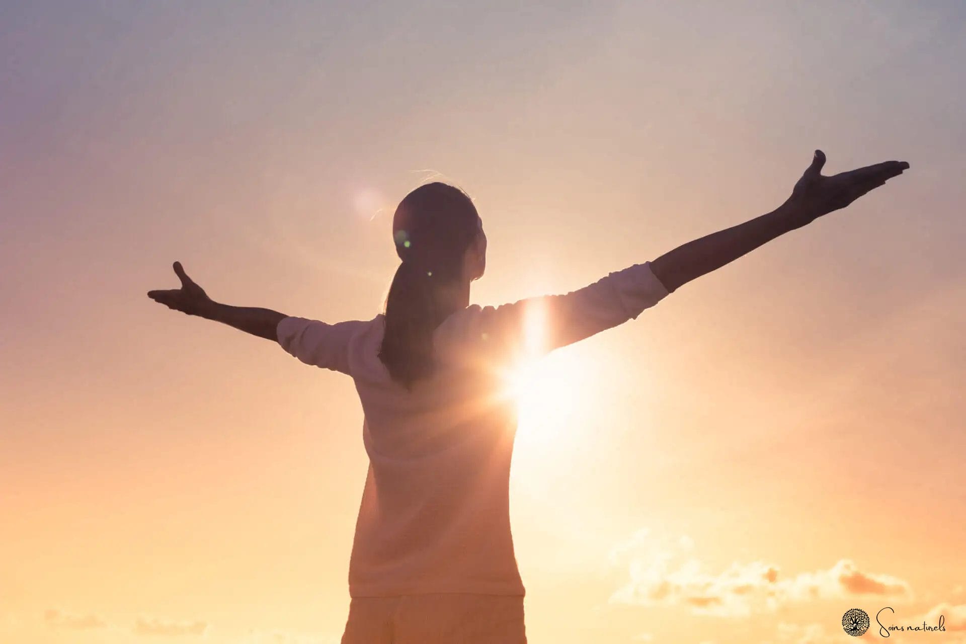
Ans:
{"label": "woman's open hand on the right, from wrist to fingertips", "polygon": [[821,174],[823,165],[825,153],[816,150],[811,165],[795,183],[789,197],[789,201],[799,206],[809,219],[845,208],[909,168],[905,161],[884,161],[825,177]]}

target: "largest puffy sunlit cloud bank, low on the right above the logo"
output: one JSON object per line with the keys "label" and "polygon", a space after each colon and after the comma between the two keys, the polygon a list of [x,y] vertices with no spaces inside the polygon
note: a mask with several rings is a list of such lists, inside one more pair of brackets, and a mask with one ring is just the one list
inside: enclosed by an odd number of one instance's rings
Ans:
{"label": "largest puffy sunlit cloud bank, low on the right above the logo", "polygon": [[889,574],[859,570],[849,559],[829,569],[780,578],[780,569],[761,561],[732,563],[708,573],[691,555],[690,539],[674,542],[639,530],[611,549],[611,563],[625,562],[630,579],[611,595],[611,603],[684,605],[692,612],[739,617],[772,611],[789,602],[862,597],[910,599],[909,585]]}

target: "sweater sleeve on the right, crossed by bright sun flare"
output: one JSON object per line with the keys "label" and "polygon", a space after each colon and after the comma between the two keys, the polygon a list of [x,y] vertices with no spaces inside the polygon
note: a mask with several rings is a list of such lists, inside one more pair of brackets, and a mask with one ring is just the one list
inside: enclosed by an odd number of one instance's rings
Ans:
{"label": "sweater sleeve on the right, crossed by bright sun flare", "polygon": [[541,355],[637,319],[667,296],[646,262],[567,294],[527,297],[496,307],[473,305],[464,334],[501,355]]}

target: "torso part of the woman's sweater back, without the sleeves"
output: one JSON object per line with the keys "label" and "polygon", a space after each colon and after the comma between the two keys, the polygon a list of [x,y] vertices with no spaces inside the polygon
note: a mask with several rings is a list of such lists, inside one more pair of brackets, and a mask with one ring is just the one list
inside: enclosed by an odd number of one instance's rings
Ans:
{"label": "torso part of the woman's sweater back, without the sleeves", "polygon": [[515,409],[500,365],[471,359],[476,343],[447,335],[468,313],[440,324],[440,366],[412,391],[377,357],[384,316],[350,342],[370,461],[350,562],[354,597],[524,594],[509,523]]}

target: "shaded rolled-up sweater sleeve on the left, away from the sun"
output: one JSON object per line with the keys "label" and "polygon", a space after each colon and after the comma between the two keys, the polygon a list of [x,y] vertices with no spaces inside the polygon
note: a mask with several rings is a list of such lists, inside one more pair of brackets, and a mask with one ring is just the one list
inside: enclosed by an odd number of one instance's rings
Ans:
{"label": "shaded rolled-up sweater sleeve on the left, away from the sun", "polygon": [[278,344],[301,362],[350,374],[349,345],[364,322],[351,320],[329,324],[288,317],[278,322]]}

